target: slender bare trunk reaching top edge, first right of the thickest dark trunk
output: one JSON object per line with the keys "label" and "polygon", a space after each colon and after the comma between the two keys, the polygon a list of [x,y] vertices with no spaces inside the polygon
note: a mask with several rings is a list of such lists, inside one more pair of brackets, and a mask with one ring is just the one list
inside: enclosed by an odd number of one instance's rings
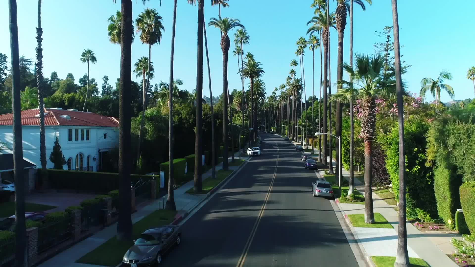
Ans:
{"label": "slender bare trunk reaching top edge, first right of the thickest dark trunk", "polygon": [[[202,0],[201,0],[202,1]],[[198,9],[199,9],[199,2],[198,2]],[[168,196],[167,196],[167,203],[165,204],[165,209],[167,210],[176,210],[177,207],[175,205],[175,192],[173,185],[175,184],[173,175],[173,152],[174,147],[173,144],[175,143],[173,138],[173,56],[175,52],[175,25],[177,21],[177,0],[174,1],[173,4],[173,26],[171,30],[171,53],[170,53],[170,83],[169,83],[169,97],[170,97],[170,109],[169,109],[169,131],[168,131]],[[149,61],[150,62],[150,61]],[[198,98],[198,97],[197,97]],[[198,101],[198,99],[197,99]]]}

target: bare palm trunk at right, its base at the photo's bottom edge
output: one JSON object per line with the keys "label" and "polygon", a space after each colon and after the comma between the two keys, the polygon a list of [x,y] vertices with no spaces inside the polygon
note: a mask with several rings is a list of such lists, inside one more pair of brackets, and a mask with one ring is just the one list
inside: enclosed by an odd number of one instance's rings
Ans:
{"label": "bare palm trunk at right, its base at the photo's bottom edge", "polygon": [[394,267],[408,267],[408,236],[406,228],[406,162],[404,157],[404,106],[402,102],[401,56],[399,52],[399,18],[398,3],[392,0],[392,21],[394,24],[394,67],[396,70],[396,91],[398,97],[398,124],[399,124],[399,224],[398,250]]}

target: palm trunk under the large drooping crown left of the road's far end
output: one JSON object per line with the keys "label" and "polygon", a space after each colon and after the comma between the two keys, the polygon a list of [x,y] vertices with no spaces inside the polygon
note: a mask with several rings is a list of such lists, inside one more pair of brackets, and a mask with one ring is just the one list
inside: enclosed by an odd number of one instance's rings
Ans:
{"label": "palm trunk under the large drooping crown left of the road's far end", "polygon": [[[223,170],[228,170],[228,49],[227,35],[221,38],[221,50],[223,51]],[[257,132],[256,132],[257,133]]]}

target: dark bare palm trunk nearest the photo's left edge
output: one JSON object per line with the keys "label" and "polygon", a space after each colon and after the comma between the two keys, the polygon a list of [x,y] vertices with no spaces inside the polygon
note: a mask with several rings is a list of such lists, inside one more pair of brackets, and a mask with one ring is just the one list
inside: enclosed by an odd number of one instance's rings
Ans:
{"label": "dark bare palm trunk nearest the photo's left edge", "polygon": [[15,259],[17,266],[26,266],[26,227],[25,227],[25,182],[23,177],[23,145],[21,139],[20,107],[20,64],[18,52],[17,1],[9,0],[11,77],[12,77],[12,111],[13,111],[13,176],[17,183],[15,191]]}

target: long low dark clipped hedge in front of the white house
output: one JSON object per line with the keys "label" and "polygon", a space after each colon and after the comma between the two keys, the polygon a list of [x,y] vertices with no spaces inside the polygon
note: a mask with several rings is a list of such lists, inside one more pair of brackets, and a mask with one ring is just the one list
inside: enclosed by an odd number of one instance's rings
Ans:
{"label": "long low dark clipped hedge in front of the white house", "polygon": [[[139,179],[154,179],[151,175],[131,174],[134,183]],[[119,188],[119,174],[113,172],[78,172],[65,170],[48,170],[48,179],[52,188],[66,190],[107,193]],[[160,180],[157,181],[160,183]],[[157,184],[160,187],[160,184]]]}

